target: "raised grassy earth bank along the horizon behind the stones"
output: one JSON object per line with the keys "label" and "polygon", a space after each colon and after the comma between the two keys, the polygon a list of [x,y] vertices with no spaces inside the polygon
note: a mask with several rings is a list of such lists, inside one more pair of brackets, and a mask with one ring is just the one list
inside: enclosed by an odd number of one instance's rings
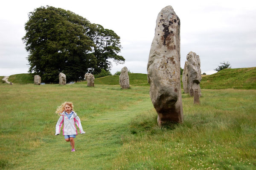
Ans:
{"label": "raised grassy earth bank along the horizon behind the stones", "polygon": [[[16,84],[34,83],[33,75],[29,74],[11,75],[8,80]],[[130,73],[129,80],[133,86],[149,86],[146,74]],[[94,84],[119,85],[119,76],[96,78]],[[200,86],[201,89],[256,89],[256,67],[224,69],[213,75],[203,75]]]}

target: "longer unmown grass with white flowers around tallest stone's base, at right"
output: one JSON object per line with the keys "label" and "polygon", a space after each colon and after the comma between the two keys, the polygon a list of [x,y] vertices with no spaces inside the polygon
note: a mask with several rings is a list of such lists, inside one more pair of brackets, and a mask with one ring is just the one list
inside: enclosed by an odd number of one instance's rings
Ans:
{"label": "longer unmown grass with white flowers around tallest stone's base, at right", "polygon": [[154,109],[137,116],[115,167],[239,169],[256,166],[256,91],[202,90],[201,105],[183,94],[184,123],[160,129]]}

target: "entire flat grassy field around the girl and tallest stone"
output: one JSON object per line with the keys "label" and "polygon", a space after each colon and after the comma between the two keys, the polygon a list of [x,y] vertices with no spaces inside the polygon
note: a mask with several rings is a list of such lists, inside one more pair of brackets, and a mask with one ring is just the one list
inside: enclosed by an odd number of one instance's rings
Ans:
{"label": "entire flat grassy field around the girl and tallest stone", "polygon": [[[72,101],[85,134],[76,152],[55,136],[55,109]],[[256,90],[182,94],[184,123],[157,126],[149,86],[0,85],[0,169],[254,170]]]}

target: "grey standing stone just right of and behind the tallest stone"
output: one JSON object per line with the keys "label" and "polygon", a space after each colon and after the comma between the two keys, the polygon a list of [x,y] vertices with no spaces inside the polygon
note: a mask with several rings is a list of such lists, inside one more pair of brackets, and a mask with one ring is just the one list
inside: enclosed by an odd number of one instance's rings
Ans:
{"label": "grey standing stone just right of and behind the tallest stone", "polygon": [[194,95],[194,90],[198,89],[198,94],[201,96],[201,62],[199,55],[196,55],[195,52],[189,52],[186,56],[187,61],[185,62],[182,82],[183,89],[185,93],[189,93],[190,96]]}

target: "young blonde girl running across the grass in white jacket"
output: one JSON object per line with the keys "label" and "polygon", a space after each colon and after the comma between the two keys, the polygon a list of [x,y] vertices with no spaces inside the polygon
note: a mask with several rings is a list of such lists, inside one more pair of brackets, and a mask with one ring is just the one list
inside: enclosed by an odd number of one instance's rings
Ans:
{"label": "young blonde girl running across the grass in white jacket", "polygon": [[[70,142],[72,147],[71,152],[75,152],[75,141],[77,135],[76,125],[79,127],[80,133],[84,134],[84,130],[81,125],[80,118],[76,115],[76,112],[73,110],[73,103],[66,101],[61,104],[60,107],[57,108],[56,113],[60,115],[58,122],[56,124],[56,133],[55,135],[59,135],[61,131],[61,126],[63,124],[63,135],[66,141]],[[76,124],[76,125],[75,125]]]}

